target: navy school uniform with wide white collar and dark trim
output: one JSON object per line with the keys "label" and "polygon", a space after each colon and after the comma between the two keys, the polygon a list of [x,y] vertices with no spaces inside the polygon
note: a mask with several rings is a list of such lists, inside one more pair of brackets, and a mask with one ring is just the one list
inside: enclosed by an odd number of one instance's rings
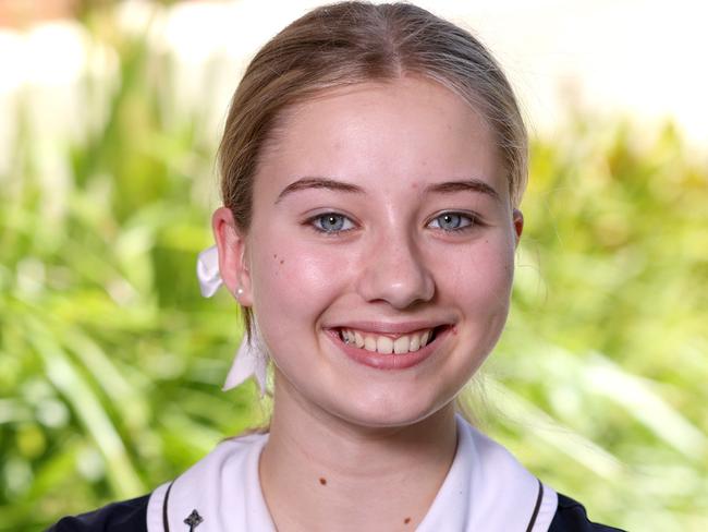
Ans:
{"label": "navy school uniform with wide white collar and dark trim", "polygon": [[[258,480],[267,434],[219,444],[151,494],[64,518],[50,532],[276,532]],[[320,488],[316,486],[314,488]],[[611,532],[457,416],[457,449],[416,532]]]}

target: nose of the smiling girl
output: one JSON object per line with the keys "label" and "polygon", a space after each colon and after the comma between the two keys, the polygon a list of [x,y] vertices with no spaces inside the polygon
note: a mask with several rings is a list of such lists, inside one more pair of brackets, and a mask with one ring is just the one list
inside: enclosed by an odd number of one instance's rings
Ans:
{"label": "nose of the smiling girl", "polygon": [[434,277],[410,235],[380,239],[365,254],[357,282],[364,300],[384,301],[403,310],[432,299]]}

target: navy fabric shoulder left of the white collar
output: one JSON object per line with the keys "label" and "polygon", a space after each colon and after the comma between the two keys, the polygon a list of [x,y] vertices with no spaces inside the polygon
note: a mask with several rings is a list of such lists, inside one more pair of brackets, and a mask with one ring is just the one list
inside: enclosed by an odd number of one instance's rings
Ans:
{"label": "navy fabric shoulder left of the white collar", "polygon": [[89,513],[65,517],[47,532],[147,532],[149,495],[113,503]]}

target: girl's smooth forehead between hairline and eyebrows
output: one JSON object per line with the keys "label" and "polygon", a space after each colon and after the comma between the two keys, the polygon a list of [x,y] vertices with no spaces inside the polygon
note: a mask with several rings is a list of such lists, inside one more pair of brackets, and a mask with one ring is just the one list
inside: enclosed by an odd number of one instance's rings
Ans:
{"label": "girl's smooth forehead between hairline and eyebrows", "polygon": [[475,178],[506,194],[493,133],[442,85],[417,77],[322,92],[280,117],[264,148],[254,192],[278,194],[305,177],[365,190]]}

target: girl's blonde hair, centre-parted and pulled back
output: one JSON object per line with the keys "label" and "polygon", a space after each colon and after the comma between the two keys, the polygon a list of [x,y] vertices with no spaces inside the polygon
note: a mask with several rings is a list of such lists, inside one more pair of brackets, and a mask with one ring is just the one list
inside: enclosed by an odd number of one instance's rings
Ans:
{"label": "girl's blonde hair, centre-parted and pulled back", "polygon": [[[279,117],[328,88],[413,75],[448,87],[488,121],[513,206],[527,174],[527,134],[514,93],[489,51],[465,29],[408,3],[341,2],[296,20],[252,60],[236,89],[221,145],[223,203],[247,231],[254,176]],[[249,309],[243,309],[251,337]]]}

